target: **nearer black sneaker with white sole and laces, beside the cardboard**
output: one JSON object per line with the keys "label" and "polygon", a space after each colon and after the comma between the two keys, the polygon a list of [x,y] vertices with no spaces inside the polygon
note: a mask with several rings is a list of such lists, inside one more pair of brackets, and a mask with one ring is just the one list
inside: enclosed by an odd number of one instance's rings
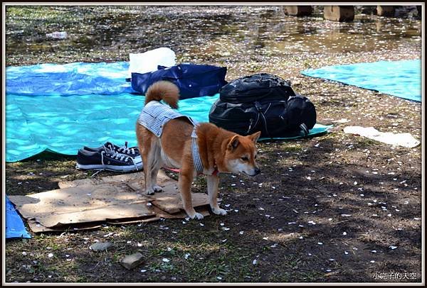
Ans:
{"label": "nearer black sneaker with white sole and laces, beside the cardboard", "polygon": [[130,157],[105,147],[94,151],[83,148],[78,150],[76,167],[81,170],[132,172],[142,170],[140,159],[141,156]]}

